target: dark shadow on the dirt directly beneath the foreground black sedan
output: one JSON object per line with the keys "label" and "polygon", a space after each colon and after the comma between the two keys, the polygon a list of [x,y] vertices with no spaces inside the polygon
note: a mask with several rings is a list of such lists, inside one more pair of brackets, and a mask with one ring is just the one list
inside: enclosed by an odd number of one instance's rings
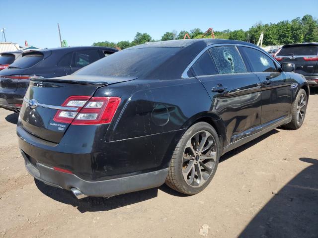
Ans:
{"label": "dark shadow on the dirt directly beneath the foreground black sedan", "polygon": [[[239,148],[234,149],[231,152],[228,152],[227,154],[221,157],[220,162],[226,159],[229,159],[233,155],[242,152],[243,150],[267,138],[268,136],[271,136],[272,134],[275,134],[278,132],[279,132],[278,130],[274,129],[258,137],[257,139],[250,141],[246,143],[245,145],[242,145]],[[122,195],[110,197],[108,199],[103,197],[86,197],[86,198],[78,200],[72,194],[71,191],[46,185],[45,183],[37,179],[34,179],[34,180],[35,180],[36,186],[43,194],[51,197],[52,199],[56,201],[63,202],[65,204],[70,204],[74,207],[77,207],[81,213],[94,212],[94,211],[108,211],[108,210],[116,209],[119,207],[128,206],[130,204],[146,201],[148,199],[157,197],[158,189],[172,196],[179,196],[179,197],[188,196],[171,189],[166,184],[163,184],[159,188],[152,188],[152,189],[147,189],[143,191],[122,194]]]}

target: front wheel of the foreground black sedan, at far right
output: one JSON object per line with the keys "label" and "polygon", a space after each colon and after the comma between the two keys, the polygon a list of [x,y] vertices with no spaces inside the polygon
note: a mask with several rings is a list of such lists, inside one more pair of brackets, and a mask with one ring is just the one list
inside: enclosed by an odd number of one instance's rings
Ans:
{"label": "front wheel of the foreground black sedan, at far right", "polygon": [[[305,97],[303,99],[305,102],[305,105],[302,108],[300,108],[300,103],[303,97]],[[292,121],[283,125],[283,127],[292,129],[292,130],[297,130],[302,126],[305,120],[307,102],[308,102],[308,98],[307,98],[306,91],[304,89],[300,89],[292,105],[292,109],[291,109]],[[300,118],[302,119],[300,120]]]}

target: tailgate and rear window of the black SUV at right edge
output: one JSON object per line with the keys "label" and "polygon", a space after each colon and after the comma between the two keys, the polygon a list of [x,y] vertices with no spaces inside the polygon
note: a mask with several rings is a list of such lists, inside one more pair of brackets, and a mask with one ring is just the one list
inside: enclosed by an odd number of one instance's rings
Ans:
{"label": "tailgate and rear window of the black SUV at right edge", "polygon": [[[291,62],[296,65],[296,73],[313,76],[318,64],[318,46],[315,45],[287,45],[276,56],[280,63]],[[316,71],[317,72],[317,71]]]}

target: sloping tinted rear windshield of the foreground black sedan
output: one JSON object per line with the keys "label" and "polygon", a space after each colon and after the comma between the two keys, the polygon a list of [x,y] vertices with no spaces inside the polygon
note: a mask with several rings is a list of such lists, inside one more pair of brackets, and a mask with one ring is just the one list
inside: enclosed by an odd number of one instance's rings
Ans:
{"label": "sloping tinted rear windshield of the foreground black sedan", "polygon": [[174,56],[180,48],[127,49],[87,65],[74,74],[140,77]]}

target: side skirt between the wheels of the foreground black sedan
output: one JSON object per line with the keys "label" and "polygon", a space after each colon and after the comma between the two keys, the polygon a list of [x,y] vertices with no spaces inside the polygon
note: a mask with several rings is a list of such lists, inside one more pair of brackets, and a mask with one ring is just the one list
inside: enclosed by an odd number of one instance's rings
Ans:
{"label": "side skirt between the wheels of the foreground black sedan", "polygon": [[239,140],[227,145],[226,147],[224,147],[222,155],[224,155],[225,153],[227,153],[227,152],[229,152],[229,151],[231,151],[231,150],[233,150],[233,149],[235,149],[235,148],[237,148],[237,147],[239,147],[239,146],[241,146],[241,145],[243,145],[243,144],[245,144],[253,139],[256,139],[257,137],[259,137],[263,134],[266,134],[267,132],[275,129],[276,127],[278,127],[280,125],[287,124],[287,123],[291,122],[291,120],[292,120],[292,118],[289,117],[289,118],[279,119],[278,121],[276,120],[276,121],[272,122],[271,124],[266,125],[265,127],[263,125],[261,131],[258,131],[255,134],[252,134],[250,136],[246,136],[242,139],[239,139]]}

